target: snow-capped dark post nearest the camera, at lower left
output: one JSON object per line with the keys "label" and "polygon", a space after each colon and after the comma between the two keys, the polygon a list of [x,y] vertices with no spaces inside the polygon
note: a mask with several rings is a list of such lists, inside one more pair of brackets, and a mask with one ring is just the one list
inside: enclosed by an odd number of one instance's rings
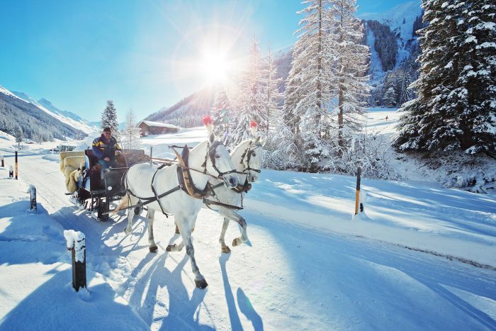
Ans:
{"label": "snow-capped dark post nearest the camera, at lower left", "polygon": [[64,230],[67,249],[72,251],[72,287],[86,288],[86,239],[83,232]]}

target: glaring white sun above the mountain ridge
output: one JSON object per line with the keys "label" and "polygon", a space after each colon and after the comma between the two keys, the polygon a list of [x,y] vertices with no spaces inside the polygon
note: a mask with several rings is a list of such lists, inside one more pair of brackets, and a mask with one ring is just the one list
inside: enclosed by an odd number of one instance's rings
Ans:
{"label": "glaring white sun above the mountain ridge", "polygon": [[208,83],[222,83],[230,72],[230,61],[222,50],[206,50],[200,63],[203,77]]}

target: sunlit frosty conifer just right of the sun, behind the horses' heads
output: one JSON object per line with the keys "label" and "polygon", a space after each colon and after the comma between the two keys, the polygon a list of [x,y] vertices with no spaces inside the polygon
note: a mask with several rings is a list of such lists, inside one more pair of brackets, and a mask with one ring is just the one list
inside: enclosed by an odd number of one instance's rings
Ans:
{"label": "sunlit frosty conifer just right of the sun, behind the horses' heads", "polygon": [[247,67],[239,77],[239,111],[230,144],[237,145],[250,138],[249,123],[252,120],[257,121],[262,130],[266,128],[264,103],[259,40],[254,37],[249,47]]}

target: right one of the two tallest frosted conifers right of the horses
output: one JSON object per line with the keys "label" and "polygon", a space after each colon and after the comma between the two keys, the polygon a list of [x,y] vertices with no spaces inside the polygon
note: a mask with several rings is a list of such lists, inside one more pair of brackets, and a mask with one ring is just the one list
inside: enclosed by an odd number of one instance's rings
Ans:
{"label": "right one of the two tallest frosted conifers right of the horses", "polygon": [[369,50],[362,45],[363,24],[355,17],[356,0],[332,0],[330,16],[334,21],[332,29],[332,56],[336,59],[333,67],[338,95],[338,145],[347,147],[346,135],[359,132],[363,123],[366,99],[371,87],[368,85]]}

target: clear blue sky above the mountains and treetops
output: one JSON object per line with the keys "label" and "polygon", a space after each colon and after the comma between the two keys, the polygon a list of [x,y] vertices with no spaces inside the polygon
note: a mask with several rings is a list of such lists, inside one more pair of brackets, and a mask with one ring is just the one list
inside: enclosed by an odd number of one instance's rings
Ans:
{"label": "clear blue sky above the mountains and treetops", "polygon": [[[358,1],[359,13],[405,0]],[[205,47],[243,57],[292,45],[300,0],[0,0],[0,85],[98,120],[107,99],[119,119],[144,118],[205,86]]]}

